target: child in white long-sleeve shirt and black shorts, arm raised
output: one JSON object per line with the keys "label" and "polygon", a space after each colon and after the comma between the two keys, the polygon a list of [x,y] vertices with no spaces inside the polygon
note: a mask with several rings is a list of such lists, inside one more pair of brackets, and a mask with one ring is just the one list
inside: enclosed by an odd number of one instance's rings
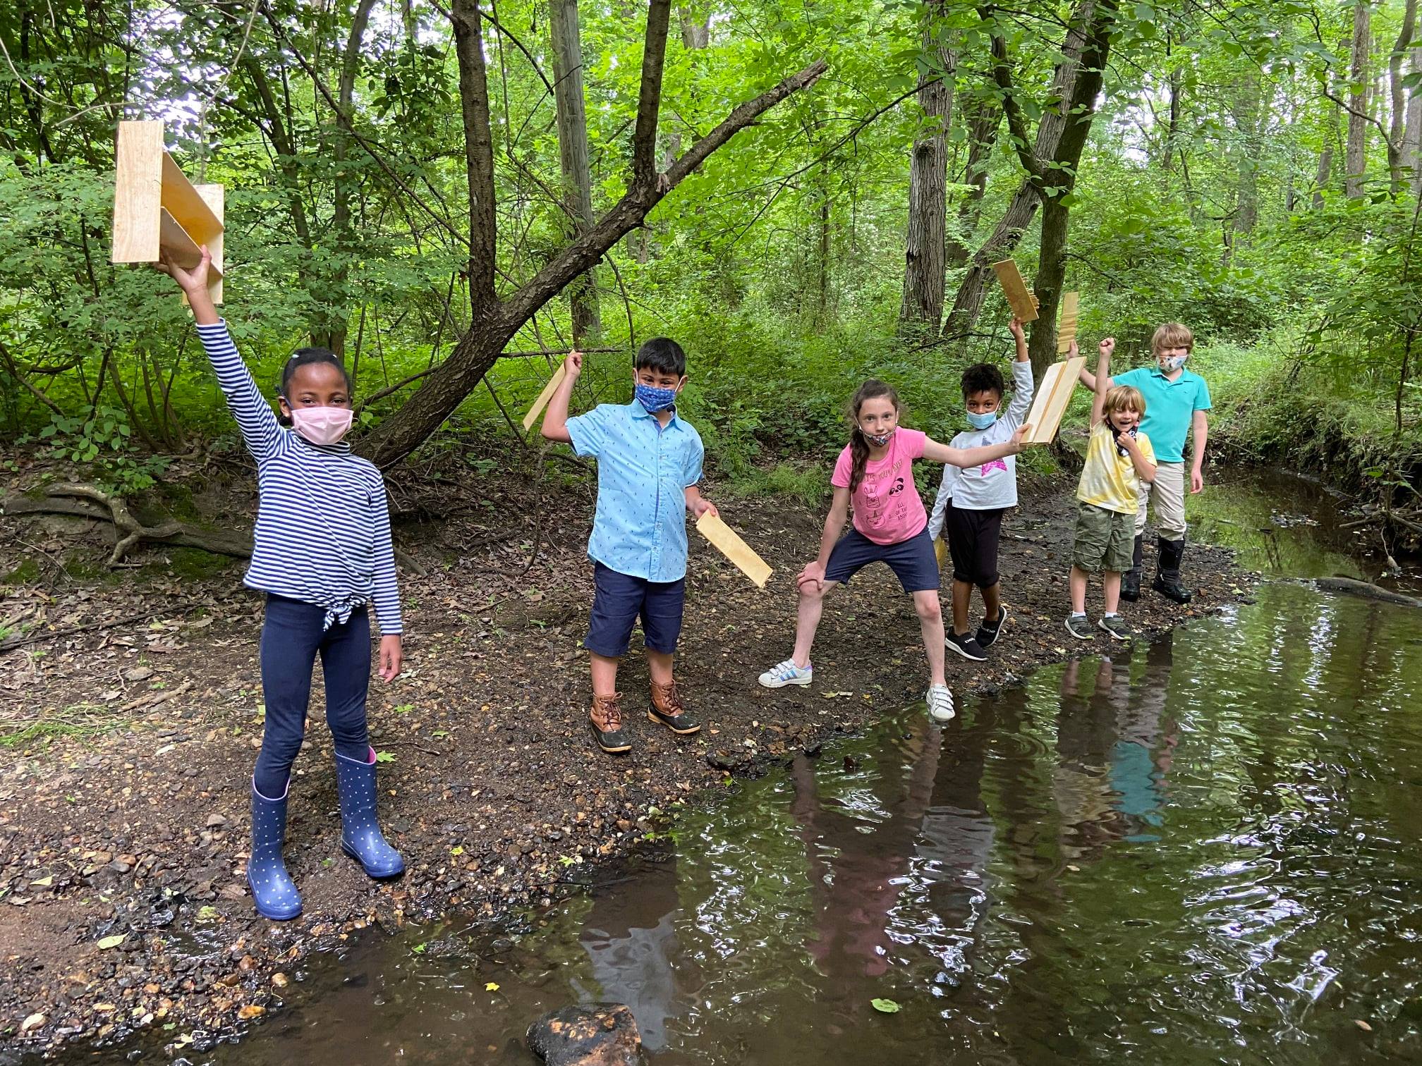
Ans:
{"label": "child in white long-sleeve shirt and black shorts, arm raised", "polygon": [[[954,436],[953,448],[983,448],[1010,441],[1032,407],[1032,364],[1027,358],[1021,318],[1012,318],[1008,328],[1017,341],[1012,402],[998,415],[1004,382],[1001,371],[993,364],[978,362],[963,371],[963,402],[973,428]],[[953,628],[944,642],[958,655],[978,662],[987,658],[984,650],[1001,635],[1007,621],[997,576],[997,544],[1003,513],[1015,506],[1017,456],[1008,455],[981,466],[946,466],[929,519],[929,534],[934,543],[940,534],[944,536],[953,557]],[[968,632],[974,586],[983,594],[983,624],[977,634]]]}

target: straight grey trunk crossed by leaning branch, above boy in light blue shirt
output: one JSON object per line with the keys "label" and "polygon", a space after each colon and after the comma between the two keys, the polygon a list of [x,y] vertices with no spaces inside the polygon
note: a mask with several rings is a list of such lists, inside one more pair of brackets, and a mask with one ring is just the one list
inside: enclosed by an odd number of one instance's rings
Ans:
{"label": "straight grey trunk crossed by leaning branch, above boy in light blue shirt", "polygon": [[[553,38],[553,95],[557,102],[557,149],[563,168],[566,235],[574,239],[593,227],[593,176],[587,166],[587,112],[583,98],[583,45],[577,30],[577,0],[549,0]],[[597,313],[597,279],[580,274],[569,286],[573,345],[603,330]]]}

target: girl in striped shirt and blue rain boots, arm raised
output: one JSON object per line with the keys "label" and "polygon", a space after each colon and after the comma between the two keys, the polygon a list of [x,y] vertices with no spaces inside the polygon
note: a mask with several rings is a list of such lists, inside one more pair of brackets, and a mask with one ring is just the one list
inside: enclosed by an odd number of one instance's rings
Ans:
{"label": "girl in striped shirt and blue rain boots, arm raised", "polygon": [[365,731],[368,604],[381,631],[380,675],[392,681],[401,667],[390,510],[380,470],[341,439],[351,425],[351,379],[340,360],[326,348],[292,355],[282,370],[279,419],[212,306],[209,263],[205,247],[192,270],[164,269],[188,296],[218,384],[257,463],[257,520],[245,584],[266,593],[266,718],[252,775],[247,884],[259,914],[287,920],[301,912],[301,897],[282,861],[286,800],[317,655],[336,749],[341,850],[371,877],[405,868],[375,823],[375,749]]}

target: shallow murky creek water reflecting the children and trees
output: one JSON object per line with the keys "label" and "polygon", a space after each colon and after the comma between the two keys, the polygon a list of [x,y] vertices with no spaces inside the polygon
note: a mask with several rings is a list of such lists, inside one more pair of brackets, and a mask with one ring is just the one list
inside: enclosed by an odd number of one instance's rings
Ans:
{"label": "shallow murky creek water reflecting the children and trees", "polygon": [[[1374,576],[1332,510],[1192,503],[1246,566]],[[1266,581],[738,783],[512,927],[367,937],[189,1057],[522,1066],[539,1015],[619,1001],[656,1066],[1422,1062],[1419,827],[1422,611]]]}

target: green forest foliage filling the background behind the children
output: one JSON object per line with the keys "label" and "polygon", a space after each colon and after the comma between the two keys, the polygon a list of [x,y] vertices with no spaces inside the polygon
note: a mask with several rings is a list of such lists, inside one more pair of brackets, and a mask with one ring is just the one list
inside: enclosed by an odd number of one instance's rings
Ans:
{"label": "green forest foliage filling the background behind the children", "polygon": [[[317,82],[338,91],[353,10],[273,0],[280,31],[257,18],[236,67],[245,20],[232,6],[18,0],[0,10],[14,61],[0,68],[9,439],[122,492],[152,485],[162,466],[148,456],[189,451],[191,438],[240,449],[171,281],[108,263],[119,105],[129,117],[166,117],[178,161],[225,185],[228,313],[264,392],[300,344],[341,348],[357,398],[449,352],[471,324],[451,27],[431,6],[371,18],[350,55],[350,114],[336,121]],[[1066,287],[1082,294],[1084,340],[1112,333],[1118,358],[1139,362],[1156,324],[1192,325],[1221,429],[1251,455],[1295,446],[1308,424],[1335,426],[1320,439],[1386,435],[1395,455],[1418,432],[1418,389],[1404,367],[1406,338],[1422,325],[1418,200],[1409,175],[1388,172],[1382,111],[1367,134],[1362,195],[1344,193],[1347,115],[1328,94],[1348,92],[1351,10],[1122,4],[1101,112],[1078,173],[1062,175],[1075,178]],[[822,495],[820,475],[846,439],[845,404],[867,377],[899,388],[907,425],[939,439],[961,429],[958,374],[977,360],[1005,361],[1011,345],[995,284],[966,338],[897,331],[909,156],[930,132],[912,91],[920,75],[943,72],[923,45],[923,20],[931,14],[933,37],[957,58],[947,216],[950,237],[971,253],[1022,181],[1000,122],[981,161],[983,199],[970,195],[968,128],[1004,102],[991,34],[1011,61],[1012,102],[1035,129],[1055,105],[1066,13],[966,0],[678,9],[688,33],[705,17],[707,47],[673,27],[661,168],[786,74],[816,58],[829,72],[708,156],[604,257],[596,347],[617,351],[590,358],[574,407],[626,401],[630,351],[674,335],[691,355],[685,412],[705,438],[708,468],[748,490],[806,500]],[[509,0],[496,17],[485,26],[485,55],[506,294],[565,244],[567,217],[555,193],[546,11]],[[1391,48],[1401,17],[1401,4],[1375,6],[1375,53]],[[644,26],[626,6],[599,3],[580,6],[580,26],[600,213],[627,188]],[[124,78],[112,77],[118,67]],[[1404,95],[1418,91],[1418,72],[1406,64],[1404,72]],[[1372,99],[1391,107],[1386,94]],[[1325,156],[1331,168],[1321,168]],[[1014,252],[1030,277],[1037,240],[1028,227]],[[966,276],[963,259],[951,260],[950,301]],[[566,348],[569,325],[557,297],[509,348]],[[519,418],[550,365],[498,362],[492,394],[471,392],[427,446],[451,448],[468,431],[509,432],[506,416]],[[411,389],[363,408],[357,431],[378,425]]]}

